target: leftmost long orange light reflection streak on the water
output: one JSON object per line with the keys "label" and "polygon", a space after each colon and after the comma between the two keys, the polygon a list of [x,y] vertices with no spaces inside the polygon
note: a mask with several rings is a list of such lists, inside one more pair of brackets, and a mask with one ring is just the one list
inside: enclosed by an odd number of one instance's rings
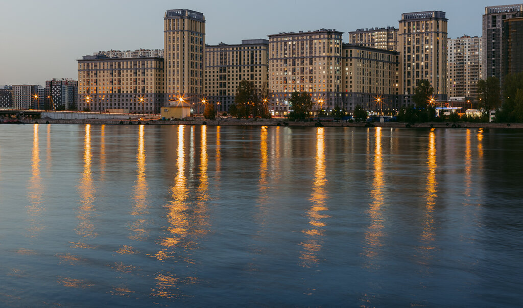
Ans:
{"label": "leftmost long orange light reflection streak on the water", "polygon": [[31,155],[31,178],[28,183],[28,199],[30,204],[26,207],[29,215],[29,237],[35,237],[37,233],[43,230],[37,218],[42,214],[42,202],[44,187],[42,185],[42,178],[40,174],[40,147],[38,138],[39,124],[33,126],[33,147]]}

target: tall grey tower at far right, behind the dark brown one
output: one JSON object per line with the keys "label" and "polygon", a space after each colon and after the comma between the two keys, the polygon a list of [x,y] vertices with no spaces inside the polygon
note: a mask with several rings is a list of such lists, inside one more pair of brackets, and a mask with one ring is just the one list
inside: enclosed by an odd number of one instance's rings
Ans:
{"label": "tall grey tower at far right, behind the dark brown one", "polygon": [[523,17],[523,4],[485,7],[483,15],[483,78],[502,76],[503,20]]}

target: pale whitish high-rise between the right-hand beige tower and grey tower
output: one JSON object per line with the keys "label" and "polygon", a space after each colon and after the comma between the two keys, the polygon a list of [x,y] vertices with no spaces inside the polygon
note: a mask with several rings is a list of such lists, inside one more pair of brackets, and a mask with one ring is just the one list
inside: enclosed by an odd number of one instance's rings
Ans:
{"label": "pale whitish high-rise between the right-hand beige tower and grey tower", "polygon": [[482,76],[481,37],[462,36],[448,39],[447,94],[448,97],[476,99],[477,82]]}

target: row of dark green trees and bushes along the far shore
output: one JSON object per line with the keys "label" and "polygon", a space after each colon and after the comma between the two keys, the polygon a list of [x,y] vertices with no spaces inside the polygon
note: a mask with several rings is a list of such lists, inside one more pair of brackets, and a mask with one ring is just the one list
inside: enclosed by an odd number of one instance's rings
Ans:
{"label": "row of dark green trees and bushes along the far shore", "polygon": [[[402,108],[397,115],[398,120],[405,122],[441,120],[436,118],[433,94],[434,88],[430,86],[427,79],[417,81],[412,96],[415,106]],[[503,94],[503,105],[501,94]],[[270,118],[269,97],[271,97],[271,93],[267,87],[256,87],[253,83],[243,80],[238,85],[234,104],[229,107],[229,113],[237,118]],[[481,117],[483,121],[488,121],[488,113],[491,110],[497,110],[497,121],[523,122],[523,73],[507,75],[503,81],[503,89],[500,88],[499,79],[496,77],[480,80],[477,83],[477,99],[483,113]],[[310,116],[313,101],[306,92],[294,92],[289,99],[289,105],[290,110],[292,110],[288,115],[289,119],[300,121]],[[499,109],[499,107],[502,108]],[[214,115],[214,107],[212,104],[208,104],[204,110],[204,116],[210,118]],[[320,111],[318,115],[320,117],[342,118],[347,115],[347,110],[335,107],[334,110],[329,112]],[[354,117],[365,119],[367,118],[367,111],[361,106],[356,106]],[[454,118],[460,120],[457,116]]]}

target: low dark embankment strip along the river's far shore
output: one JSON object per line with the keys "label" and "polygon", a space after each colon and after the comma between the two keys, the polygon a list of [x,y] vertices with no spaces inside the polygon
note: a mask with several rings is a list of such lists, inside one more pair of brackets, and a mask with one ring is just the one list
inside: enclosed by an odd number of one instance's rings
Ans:
{"label": "low dark embankment strip along the river's far shore", "polygon": [[20,120],[24,124],[110,124],[110,125],[211,125],[211,126],[282,126],[282,127],[385,127],[385,128],[523,128],[523,123],[471,123],[471,122],[427,122],[408,124],[404,122],[293,122],[286,119],[220,119],[220,120],[120,120],[120,119],[84,119],[84,120]]}

